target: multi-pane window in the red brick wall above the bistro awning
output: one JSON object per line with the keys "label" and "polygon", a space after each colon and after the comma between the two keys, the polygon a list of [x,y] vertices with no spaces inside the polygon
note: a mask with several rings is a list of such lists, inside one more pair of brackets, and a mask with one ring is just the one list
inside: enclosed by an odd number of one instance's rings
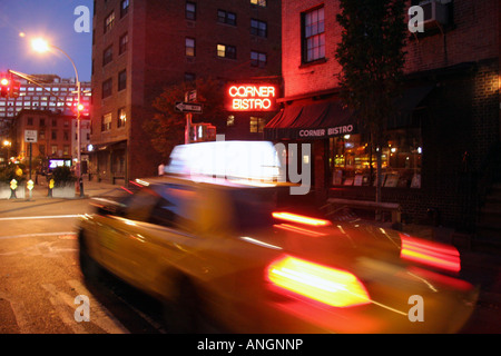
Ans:
{"label": "multi-pane window in the red brick wall above the bistro awning", "polygon": [[303,61],[325,58],[324,8],[303,13]]}

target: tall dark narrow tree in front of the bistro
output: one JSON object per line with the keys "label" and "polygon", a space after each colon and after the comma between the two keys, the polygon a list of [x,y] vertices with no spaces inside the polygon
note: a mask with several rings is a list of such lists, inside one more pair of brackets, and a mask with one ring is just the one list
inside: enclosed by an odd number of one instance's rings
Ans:
{"label": "tall dark narrow tree in front of the bistro", "polygon": [[381,154],[387,120],[403,77],[406,38],[404,0],[340,0],[342,41],[336,59],[340,87],[376,156],[376,202],[381,202]]}

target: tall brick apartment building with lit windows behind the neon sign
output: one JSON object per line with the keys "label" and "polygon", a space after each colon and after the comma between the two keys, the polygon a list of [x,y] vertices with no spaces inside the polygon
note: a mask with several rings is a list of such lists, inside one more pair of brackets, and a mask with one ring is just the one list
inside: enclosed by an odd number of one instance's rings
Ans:
{"label": "tall brick apartment building with lit windows behind the neon sign", "polygon": [[[165,87],[279,78],[279,1],[97,0],[94,9],[91,170],[101,179],[156,175],[161,160],[143,125]],[[266,117],[223,115],[218,134],[262,137]]]}

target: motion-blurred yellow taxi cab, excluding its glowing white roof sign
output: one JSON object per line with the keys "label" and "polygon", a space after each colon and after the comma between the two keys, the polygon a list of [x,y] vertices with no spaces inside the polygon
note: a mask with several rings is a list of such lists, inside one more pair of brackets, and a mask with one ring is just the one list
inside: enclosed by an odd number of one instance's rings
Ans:
{"label": "motion-blurred yellow taxi cab, excluding its glowing white roof sign", "polygon": [[136,182],[82,217],[80,266],[158,297],[171,332],[454,333],[473,310],[451,246],[278,210],[278,184]]}

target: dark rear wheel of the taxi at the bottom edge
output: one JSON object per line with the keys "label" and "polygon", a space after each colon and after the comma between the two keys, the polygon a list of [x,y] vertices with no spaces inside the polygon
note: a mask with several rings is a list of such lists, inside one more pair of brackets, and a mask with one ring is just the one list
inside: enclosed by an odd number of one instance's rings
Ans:
{"label": "dark rear wheel of the taxi at the bottom edge", "polygon": [[202,332],[200,300],[189,280],[179,280],[175,300],[164,303],[164,319],[170,333]]}

